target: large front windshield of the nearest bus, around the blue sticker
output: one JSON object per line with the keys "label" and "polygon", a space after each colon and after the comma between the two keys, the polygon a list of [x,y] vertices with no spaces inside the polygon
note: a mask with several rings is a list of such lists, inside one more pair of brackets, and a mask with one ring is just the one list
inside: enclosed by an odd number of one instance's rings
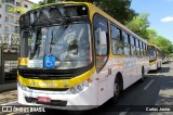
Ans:
{"label": "large front windshield of the nearest bus, around the blue sticker", "polygon": [[54,56],[54,68],[77,68],[92,62],[90,24],[66,23],[22,30],[21,58],[29,68],[44,68],[46,55]]}

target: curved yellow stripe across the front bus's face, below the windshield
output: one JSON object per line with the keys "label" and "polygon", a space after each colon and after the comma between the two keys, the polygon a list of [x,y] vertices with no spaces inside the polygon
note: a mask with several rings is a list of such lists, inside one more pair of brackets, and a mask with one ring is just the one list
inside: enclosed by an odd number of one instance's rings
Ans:
{"label": "curved yellow stripe across the front bus's face, below the windshield", "polygon": [[29,78],[23,78],[22,76],[19,76],[19,74],[17,74],[17,79],[22,85],[34,88],[71,88],[76,85],[83,82],[84,80],[88,80],[88,78],[91,78],[94,73],[95,73],[95,67],[71,79],[63,79],[63,80],[29,79]]}

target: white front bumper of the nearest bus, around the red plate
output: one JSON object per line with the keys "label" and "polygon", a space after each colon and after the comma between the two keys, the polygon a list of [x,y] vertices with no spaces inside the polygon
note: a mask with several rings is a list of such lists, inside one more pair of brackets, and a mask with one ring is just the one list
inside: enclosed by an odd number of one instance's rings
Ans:
{"label": "white front bumper of the nearest bus, around the red plate", "polygon": [[[59,93],[59,91],[23,90],[17,85],[18,103],[58,110],[91,110],[97,107],[96,89],[90,86],[76,94]],[[51,101],[39,101],[38,98],[48,98]]]}

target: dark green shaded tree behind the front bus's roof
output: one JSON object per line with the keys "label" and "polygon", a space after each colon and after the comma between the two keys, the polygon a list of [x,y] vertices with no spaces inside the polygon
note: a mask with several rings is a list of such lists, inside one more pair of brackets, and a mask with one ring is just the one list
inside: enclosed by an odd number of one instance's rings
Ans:
{"label": "dark green shaded tree behind the front bus's roof", "polygon": [[[71,1],[71,0],[43,0],[39,2],[39,5],[54,3],[56,1]],[[75,0],[77,2],[91,2],[110,16],[116,18],[121,24],[125,24],[137,14],[134,10],[130,9],[131,0]]]}

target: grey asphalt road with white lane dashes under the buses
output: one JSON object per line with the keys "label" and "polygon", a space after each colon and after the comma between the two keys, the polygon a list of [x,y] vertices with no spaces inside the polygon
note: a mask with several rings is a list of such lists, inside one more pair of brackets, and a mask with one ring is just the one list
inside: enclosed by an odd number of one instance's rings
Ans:
{"label": "grey asphalt road with white lane dashes under the buses", "polygon": [[[16,93],[16,91],[14,92]],[[5,100],[5,98],[4,98]],[[5,105],[15,105],[10,102]],[[169,106],[170,105],[170,106]],[[172,106],[171,106],[172,105]],[[157,112],[164,107],[164,112]],[[172,110],[172,112],[169,111]],[[169,112],[167,112],[169,111]],[[2,114],[2,113],[0,113]],[[6,114],[6,113],[3,113]],[[105,103],[98,108],[84,112],[69,112],[45,108],[40,113],[9,113],[9,115],[173,115],[173,62],[163,64],[157,72],[145,76],[144,82],[135,82],[121,94],[120,100],[110,104]]]}

